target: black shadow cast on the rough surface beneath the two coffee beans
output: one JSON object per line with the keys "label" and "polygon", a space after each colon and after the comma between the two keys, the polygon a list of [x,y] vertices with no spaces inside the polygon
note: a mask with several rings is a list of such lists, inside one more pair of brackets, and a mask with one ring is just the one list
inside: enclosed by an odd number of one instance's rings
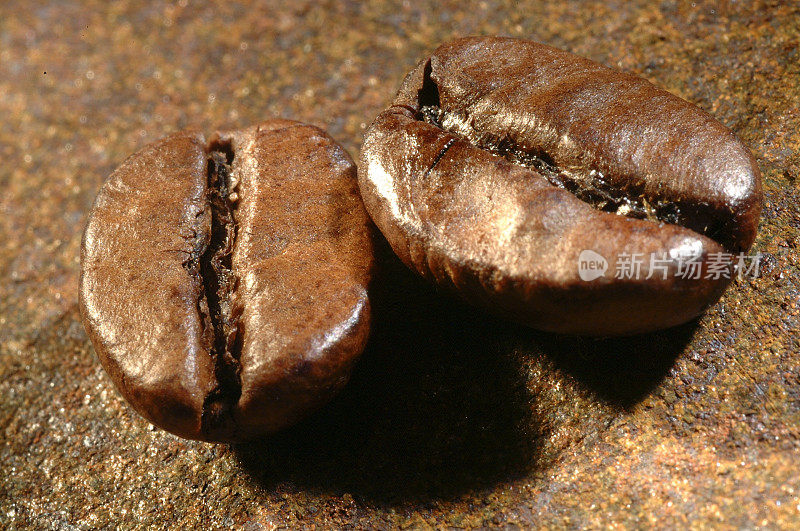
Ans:
{"label": "black shadow cast on the rough surface beneath the two coffee beans", "polygon": [[658,386],[695,327],[602,340],[533,331],[437,292],[381,245],[373,331],[347,387],[300,424],[234,446],[267,489],[393,503],[544,472],[556,457],[546,445],[559,406],[542,396],[551,379],[622,414]]}

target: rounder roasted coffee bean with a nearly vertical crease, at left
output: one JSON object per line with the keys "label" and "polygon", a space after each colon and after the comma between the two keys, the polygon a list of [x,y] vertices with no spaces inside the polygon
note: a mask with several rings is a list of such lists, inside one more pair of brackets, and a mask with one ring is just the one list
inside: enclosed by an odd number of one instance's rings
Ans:
{"label": "rounder roasted coffee bean with a nearly vertical crease, at left", "polygon": [[353,161],[315,127],[174,134],[97,196],[86,329],[154,424],[207,441],[274,432],[340,389],[364,348],[370,227]]}

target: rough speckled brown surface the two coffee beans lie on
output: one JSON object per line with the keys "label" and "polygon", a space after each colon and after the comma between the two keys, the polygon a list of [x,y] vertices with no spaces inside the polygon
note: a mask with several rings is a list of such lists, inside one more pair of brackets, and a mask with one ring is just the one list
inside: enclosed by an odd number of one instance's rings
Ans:
{"label": "rough speckled brown surface the two coffee beans lie on", "polygon": [[[195,4],[0,6],[0,527],[800,525],[795,2]],[[487,317],[384,247],[370,347],[318,414],[239,447],[136,416],[76,302],[108,173],[272,116],[355,157],[403,74],[469,34],[637,73],[736,131],[764,175],[761,278],[698,323],[587,340]]]}

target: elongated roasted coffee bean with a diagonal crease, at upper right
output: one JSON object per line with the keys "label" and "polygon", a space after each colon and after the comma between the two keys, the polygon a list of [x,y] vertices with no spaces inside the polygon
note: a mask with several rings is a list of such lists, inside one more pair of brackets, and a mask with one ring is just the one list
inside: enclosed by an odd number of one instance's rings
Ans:
{"label": "elongated roasted coffee bean with a diagonal crease, at upper right", "polygon": [[[761,208],[752,155],[710,115],[509,38],[456,40],[420,63],[366,132],[359,169],[367,210],[409,267],[565,333],[699,315]],[[583,280],[582,266],[601,274]]]}

